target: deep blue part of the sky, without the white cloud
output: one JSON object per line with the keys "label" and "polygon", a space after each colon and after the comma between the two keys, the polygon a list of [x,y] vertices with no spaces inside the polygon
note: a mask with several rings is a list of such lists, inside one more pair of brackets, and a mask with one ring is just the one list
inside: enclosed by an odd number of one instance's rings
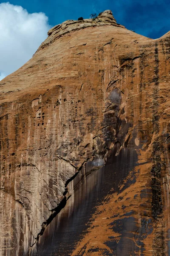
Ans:
{"label": "deep blue part of the sky, without the white cloud", "polygon": [[[4,1],[3,1],[4,2]],[[65,20],[88,18],[91,13],[111,9],[118,23],[150,38],[170,30],[170,0],[10,0],[29,13],[44,12],[54,26]],[[2,2],[0,2],[2,3]]]}

